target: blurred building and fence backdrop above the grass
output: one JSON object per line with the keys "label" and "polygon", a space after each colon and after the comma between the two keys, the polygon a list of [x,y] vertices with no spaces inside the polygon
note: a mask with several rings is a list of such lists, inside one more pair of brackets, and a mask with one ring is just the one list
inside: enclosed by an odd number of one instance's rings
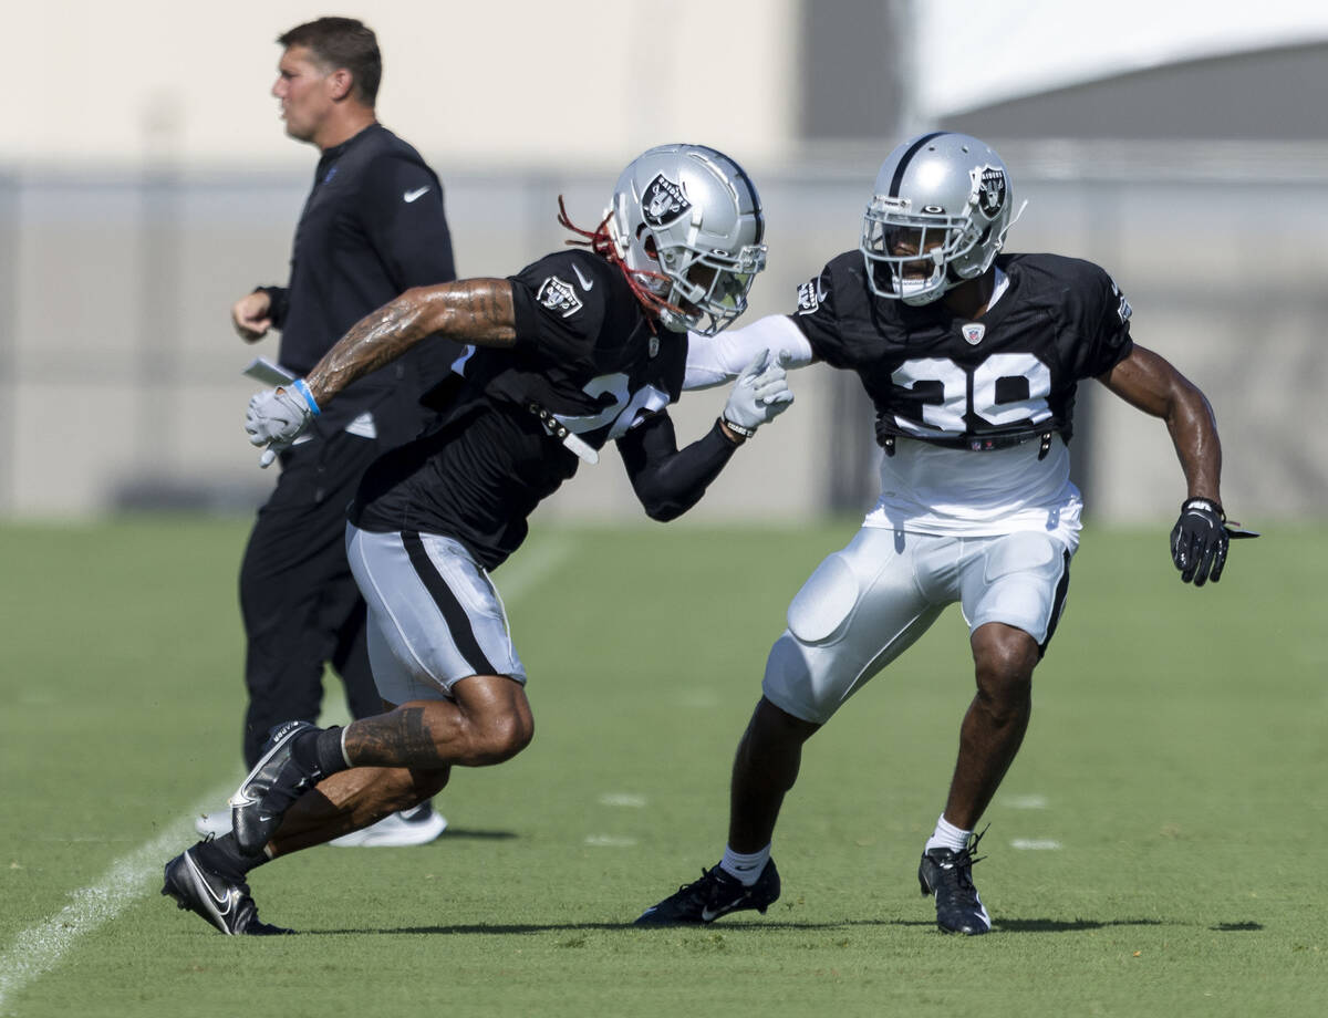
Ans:
{"label": "blurred building and fence backdrop above the grass", "polygon": [[[316,161],[266,96],[271,38],[308,9],[239,3],[252,11],[198,32],[157,0],[129,5],[143,21],[86,4],[77,31],[48,7],[19,28],[65,40],[68,69],[21,54],[20,80],[41,88],[0,127],[0,516],[248,508],[271,478],[240,430],[252,386],[239,370],[275,341],[240,344],[228,308],[284,279]],[[768,208],[753,313],[789,311],[799,283],[857,246],[886,151],[915,130],[963,130],[1001,151],[1029,199],[1011,248],[1105,265],[1135,337],[1208,393],[1234,515],[1323,516],[1328,16],[1270,3],[1258,32],[1228,19],[1189,35],[1159,16],[1147,44],[1122,35],[1149,24],[1130,3],[1113,8],[1127,28],[1068,36],[1057,19],[1077,7],[1011,4],[988,24],[984,5],[946,0],[594,0],[552,20],[529,3],[402,1],[369,21],[386,56],[380,114],[444,178],[463,275],[559,246],[559,194],[591,223],[636,151],[704,141],[748,166]],[[130,69],[109,101],[106,54]],[[870,503],[857,381],[826,368],[793,381],[794,410],[692,518]],[[680,435],[721,403],[688,397]],[[1169,520],[1185,494],[1165,426],[1092,384],[1076,451],[1097,519]],[[639,518],[611,457],[542,512]]]}

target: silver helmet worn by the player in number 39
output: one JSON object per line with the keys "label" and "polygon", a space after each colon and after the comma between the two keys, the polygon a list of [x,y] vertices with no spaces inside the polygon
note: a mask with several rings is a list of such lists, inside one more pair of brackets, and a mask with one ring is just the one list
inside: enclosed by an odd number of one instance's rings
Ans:
{"label": "silver helmet worn by the player in number 39", "polygon": [[985,272],[1011,227],[1013,186],[985,142],[938,131],[895,149],[862,223],[872,293],[931,304]]}

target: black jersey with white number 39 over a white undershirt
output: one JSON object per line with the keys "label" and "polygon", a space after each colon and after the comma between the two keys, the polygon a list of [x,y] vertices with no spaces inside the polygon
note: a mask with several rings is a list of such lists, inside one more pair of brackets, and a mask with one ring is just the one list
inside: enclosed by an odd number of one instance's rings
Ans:
{"label": "black jersey with white number 39 over a white undershirt", "polygon": [[992,449],[1049,431],[1066,441],[1080,380],[1133,349],[1130,305],[1090,261],[1001,255],[1009,280],[981,316],[940,303],[875,296],[861,252],[833,259],[798,291],[790,319],[819,360],[858,373],[876,409],[876,437]]}

